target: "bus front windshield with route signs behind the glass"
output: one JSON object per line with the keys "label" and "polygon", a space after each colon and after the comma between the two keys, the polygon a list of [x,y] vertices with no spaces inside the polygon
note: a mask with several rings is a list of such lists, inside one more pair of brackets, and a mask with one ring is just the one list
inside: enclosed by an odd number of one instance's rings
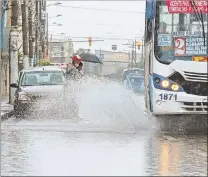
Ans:
{"label": "bus front windshield with route signs behind the glass", "polygon": [[192,61],[193,56],[208,55],[207,1],[198,1],[204,9],[192,12],[190,1],[156,1],[154,46],[155,56],[160,62]]}

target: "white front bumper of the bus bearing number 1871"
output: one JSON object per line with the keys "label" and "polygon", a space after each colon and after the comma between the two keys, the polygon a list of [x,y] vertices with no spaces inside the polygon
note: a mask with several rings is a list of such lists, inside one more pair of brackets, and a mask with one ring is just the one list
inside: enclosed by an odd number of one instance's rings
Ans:
{"label": "white front bumper of the bus bearing number 1871", "polygon": [[[177,96],[171,98],[169,96],[164,100],[162,96],[165,94],[166,96],[177,94]],[[208,114],[207,96],[153,89],[152,101],[154,115]]]}

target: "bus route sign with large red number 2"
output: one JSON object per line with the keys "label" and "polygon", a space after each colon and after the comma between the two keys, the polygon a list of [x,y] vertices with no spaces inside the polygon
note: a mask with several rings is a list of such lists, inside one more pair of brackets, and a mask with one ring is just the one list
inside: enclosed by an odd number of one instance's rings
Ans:
{"label": "bus route sign with large red number 2", "polygon": [[175,37],[175,56],[207,56],[207,40],[202,37]]}

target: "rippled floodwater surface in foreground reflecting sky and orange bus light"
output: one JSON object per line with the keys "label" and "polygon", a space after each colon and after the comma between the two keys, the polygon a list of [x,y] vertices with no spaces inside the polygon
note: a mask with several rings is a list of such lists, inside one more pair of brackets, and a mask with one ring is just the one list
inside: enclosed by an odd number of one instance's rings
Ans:
{"label": "rippled floodwater surface in foreground reflecting sky and orange bus light", "polygon": [[5,125],[1,136],[1,175],[5,176],[207,175],[207,137],[203,135]]}

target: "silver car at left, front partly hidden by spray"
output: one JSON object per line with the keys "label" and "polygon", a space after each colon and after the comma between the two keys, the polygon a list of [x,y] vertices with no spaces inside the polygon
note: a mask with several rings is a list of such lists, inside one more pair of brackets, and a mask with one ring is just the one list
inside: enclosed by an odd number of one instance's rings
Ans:
{"label": "silver car at left, front partly hidden by spray", "polygon": [[22,70],[17,83],[10,84],[10,87],[16,89],[13,103],[16,118],[25,118],[32,111],[45,111],[51,104],[66,105],[62,104],[66,100],[65,81],[64,71],[59,67],[43,66]]}

